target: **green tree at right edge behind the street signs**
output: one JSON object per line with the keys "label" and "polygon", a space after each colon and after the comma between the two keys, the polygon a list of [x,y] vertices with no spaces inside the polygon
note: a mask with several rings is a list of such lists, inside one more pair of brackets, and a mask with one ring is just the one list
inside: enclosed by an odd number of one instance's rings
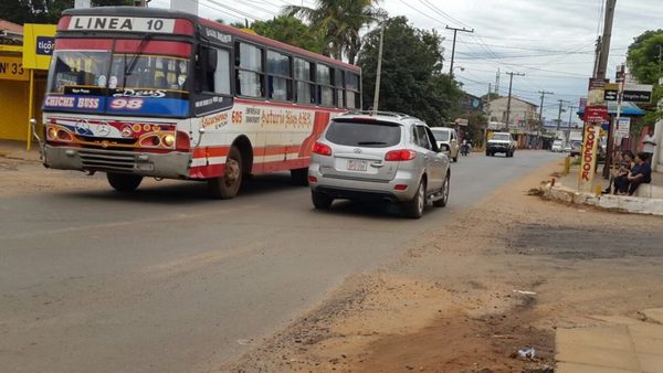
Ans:
{"label": "green tree at right edge behind the street signs", "polygon": [[663,77],[663,61],[661,61],[663,49],[663,30],[645,31],[629,45],[627,65],[629,72],[638,82],[653,84],[652,103],[642,105],[648,110],[642,125],[653,125],[663,118],[663,109],[657,103],[663,99],[663,87],[659,79]]}

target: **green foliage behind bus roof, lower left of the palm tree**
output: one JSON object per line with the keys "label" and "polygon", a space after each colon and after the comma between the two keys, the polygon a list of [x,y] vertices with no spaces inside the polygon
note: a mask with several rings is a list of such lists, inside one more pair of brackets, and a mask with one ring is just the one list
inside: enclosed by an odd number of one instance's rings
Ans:
{"label": "green foliage behind bus roof, lower left of the palm tree", "polygon": [[251,29],[259,35],[322,53],[323,36],[294,17],[280,15],[270,21],[255,21]]}

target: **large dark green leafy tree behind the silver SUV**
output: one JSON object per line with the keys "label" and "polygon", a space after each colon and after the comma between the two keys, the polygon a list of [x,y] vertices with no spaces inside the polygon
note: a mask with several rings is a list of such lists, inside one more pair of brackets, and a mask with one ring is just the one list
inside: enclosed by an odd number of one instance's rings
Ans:
{"label": "large dark green leafy tree behind the silver SUV", "polygon": [[[441,36],[419,30],[398,17],[385,22],[380,110],[407,113],[441,126],[455,118],[462,92],[457,83],[442,74]],[[365,36],[359,54],[364,103],[373,102],[380,31]]]}

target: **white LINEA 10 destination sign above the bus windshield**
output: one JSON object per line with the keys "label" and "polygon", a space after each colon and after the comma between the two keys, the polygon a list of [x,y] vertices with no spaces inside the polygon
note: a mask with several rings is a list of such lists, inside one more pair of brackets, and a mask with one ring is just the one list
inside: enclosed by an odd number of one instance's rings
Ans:
{"label": "white LINEA 10 destination sign above the bus windshield", "polygon": [[175,30],[175,20],[139,17],[75,15],[70,21],[69,30],[172,33]]}

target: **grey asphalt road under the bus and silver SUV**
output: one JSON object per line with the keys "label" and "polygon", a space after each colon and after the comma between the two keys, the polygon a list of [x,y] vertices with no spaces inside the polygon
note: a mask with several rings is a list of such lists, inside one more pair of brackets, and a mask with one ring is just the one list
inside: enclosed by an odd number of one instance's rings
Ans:
{"label": "grey asphalt road under the bus and silver SUV", "polygon": [[0,199],[1,370],[213,370],[347,276],[394,260],[452,214],[560,157],[462,157],[449,206],[419,221],[375,204],[314,211],[308,189],[282,174],[255,178],[231,201],[192,182]]}

